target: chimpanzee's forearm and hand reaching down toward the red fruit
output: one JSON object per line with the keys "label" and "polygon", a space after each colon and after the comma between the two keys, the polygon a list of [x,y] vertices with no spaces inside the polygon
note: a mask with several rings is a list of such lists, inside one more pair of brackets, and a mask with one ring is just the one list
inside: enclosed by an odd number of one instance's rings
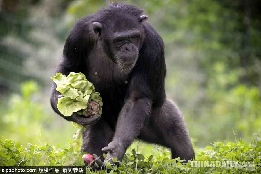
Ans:
{"label": "chimpanzee's forearm and hand reaching down toward the red fruit", "polygon": [[102,149],[108,151],[106,161],[113,163],[112,159],[115,157],[122,160],[127,148],[142,131],[151,115],[151,105],[151,99],[148,97],[138,99],[133,96],[126,101],[119,114],[113,140]]}

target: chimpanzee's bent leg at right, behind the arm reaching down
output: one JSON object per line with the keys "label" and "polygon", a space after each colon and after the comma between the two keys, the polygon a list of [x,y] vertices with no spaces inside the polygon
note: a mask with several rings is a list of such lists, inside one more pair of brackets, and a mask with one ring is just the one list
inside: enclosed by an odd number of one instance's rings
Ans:
{"label": "chimpanzee's bent leg at right, behind the arm reaching down", "polygon": [[138,138],[170,148],[173,159],[180,157],[187,162],[195,158],[184,117],[170,99],[166,99],[162,107],[153,109],[153,115]]}

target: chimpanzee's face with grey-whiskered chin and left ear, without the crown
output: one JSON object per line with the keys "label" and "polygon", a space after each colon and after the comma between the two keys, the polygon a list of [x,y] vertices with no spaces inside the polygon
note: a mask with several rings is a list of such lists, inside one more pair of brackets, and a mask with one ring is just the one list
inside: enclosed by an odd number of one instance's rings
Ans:
{"label": "chimpanzee's face with grey-whiskered chin and left ear, without the crown", "polygon": [[[139,56],[142,29],[139,19],[112,20],[106,25],[93,23],[93,29],[103,50],[124,73],[130,73]],[[118,24],[119,23],[119,24]]]}

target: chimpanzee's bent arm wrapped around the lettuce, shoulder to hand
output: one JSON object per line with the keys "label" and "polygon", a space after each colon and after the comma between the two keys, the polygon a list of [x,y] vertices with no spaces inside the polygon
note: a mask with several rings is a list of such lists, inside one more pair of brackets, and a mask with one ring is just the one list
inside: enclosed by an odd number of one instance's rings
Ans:
{"label": "chimpanzee's bent arm wrapped around the lettuce, shoulder to hand", "polygon": [[[62,73],[68,76],[70,72],[85,72],[87,62],[86,58],[88,58],[89,51],[93,48],[94,44],[93,36],[90,32],[90,27],[88,24],[90,18],[90,16],[87,16],[79,19],[79,21],[75,24],[75,27],[73,27],[70,31],[70,34],[64,44],[63,59],[57,66],[55,73]],[[73,121],[83,126],[92,125],[98,122],[100,117],[99,115],[92,118],[79,116],[77,113],[73,113],[73,115],[69,117],[62,115],[57,108],[58,98],[61,97],[59,96],[61,93],[56,90],[56,87],[55,82],[52,82],[50,102],[56,113],[68,121]]]}

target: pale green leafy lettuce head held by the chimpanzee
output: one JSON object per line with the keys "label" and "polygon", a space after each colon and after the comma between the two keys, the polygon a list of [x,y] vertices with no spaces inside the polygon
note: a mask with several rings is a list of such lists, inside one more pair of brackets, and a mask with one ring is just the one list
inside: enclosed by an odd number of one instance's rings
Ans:
{"label": "pale green leafy lettuce head held by the chimpanzee", "polygon": [[[91,82],[86,80],[82,73],[70,73],[67,77],[62,73],[57,73],[51,77],[56,83],[56,90],[64,97],[58,98],[57,108],[62,115],[68,117],[74,112],[87,108],[88,100],[93,100],[99,104],[99,115],[102,115],[102,98],[100,93],[95,92]],[[82,111],[78,112],[83,115]]]}

